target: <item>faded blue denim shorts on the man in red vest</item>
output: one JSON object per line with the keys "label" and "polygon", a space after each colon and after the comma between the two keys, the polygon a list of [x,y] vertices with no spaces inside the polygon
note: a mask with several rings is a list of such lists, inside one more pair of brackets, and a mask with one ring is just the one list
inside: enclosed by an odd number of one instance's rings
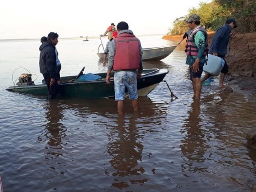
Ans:
{"label": "faded blue denim shorts on the man in red vest", "polygon": [[117,71],[115,72],[114,82],[116,101],[125,100],[125,87],[130,99],[138,99],[136,71]]}

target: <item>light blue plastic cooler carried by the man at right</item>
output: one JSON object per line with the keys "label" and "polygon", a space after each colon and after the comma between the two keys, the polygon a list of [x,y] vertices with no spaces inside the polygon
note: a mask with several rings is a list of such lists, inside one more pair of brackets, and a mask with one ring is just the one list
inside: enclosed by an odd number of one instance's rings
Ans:
{"label": "light blue plastic cooler carried by the man at right", "polygon": [[225,61],[215,55],[208,55],[207,64],[204,64],[203,71],[212,76],[218,76],[225,64]]}

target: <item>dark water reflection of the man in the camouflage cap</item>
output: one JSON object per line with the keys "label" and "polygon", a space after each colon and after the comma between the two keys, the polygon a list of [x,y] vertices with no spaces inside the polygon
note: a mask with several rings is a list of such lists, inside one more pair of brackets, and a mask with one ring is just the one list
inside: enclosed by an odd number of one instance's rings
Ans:
{"label": "dark water reflection of the man in the camouflage cap", "polygon": [[[202,131],[202,119],[200,114],[200,100],[196,99],[191,104],[191,111],[189,111],[189,116],[185,119],[185,131],[187,131],[186,136],[181,140],[181,151],[182,154],[189,160],[184,165],[182,164],[182,170],[189,167],[189,172],[198,172],[199,168],[191,168],[194,162],[204,162],[204,153],[207,150],[206,139],[204,132]],[[185,131],[182,131],[183,133]],[[202,170],[202,168],[200,168]]]}

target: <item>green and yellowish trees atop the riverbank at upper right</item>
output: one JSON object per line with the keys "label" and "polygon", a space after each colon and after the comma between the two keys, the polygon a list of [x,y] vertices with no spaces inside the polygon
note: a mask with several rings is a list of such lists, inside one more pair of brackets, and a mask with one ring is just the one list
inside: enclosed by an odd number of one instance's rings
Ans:
{"label": "green and yellowish trees atop the riverbank at upper right", "polygon": [[236,20],[236,30],[256,31],[256,0],[213,0],[211,3],[199,3],[198,9],[193,7],[188,15],[177,18],[168,35],[183,35],[188,29],[185,20],[191,14],[200,15],[201,26],[210,31],[216,31],[228,18]]}

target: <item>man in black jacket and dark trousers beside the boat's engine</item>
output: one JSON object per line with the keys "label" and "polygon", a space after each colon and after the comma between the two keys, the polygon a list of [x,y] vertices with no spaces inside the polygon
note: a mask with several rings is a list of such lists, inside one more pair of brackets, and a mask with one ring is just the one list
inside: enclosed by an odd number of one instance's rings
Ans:
{"label": "man in black jacket and dark trousers beside the boat's engine", "polygon": [[56,76],[56,54],[55,45],[58,43],[58,34],[50,32],[47,36],[47,42],[44,42],[39,47],[40,58],[39,67],[40,73],[43,74],[44,80],[48,88],[48,99],[54,99],[58,93],[58,81]]}

